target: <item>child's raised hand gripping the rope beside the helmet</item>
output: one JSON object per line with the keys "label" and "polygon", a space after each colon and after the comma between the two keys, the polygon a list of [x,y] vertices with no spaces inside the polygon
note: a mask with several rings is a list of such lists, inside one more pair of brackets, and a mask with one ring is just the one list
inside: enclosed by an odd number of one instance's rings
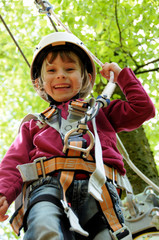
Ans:
{"label": "child's raised hand gripping the rope beside the helmet", "polygon": [[119,73],[121,72],[121,68],[118,66],[117,63],[105,63],[102,66],[102,70],[100,71],[101,75],[106,78],[110,79],[110,71],[114,72],[114,82],[117,82]]}

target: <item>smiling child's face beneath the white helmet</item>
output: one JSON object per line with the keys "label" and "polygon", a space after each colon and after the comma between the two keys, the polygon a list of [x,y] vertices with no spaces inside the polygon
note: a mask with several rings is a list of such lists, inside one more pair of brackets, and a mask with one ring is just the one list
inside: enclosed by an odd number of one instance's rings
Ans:
{"label": "smiling child's face beneath the white helmet", "polygon": [[78,57],[61,58],[60,54],[49,63],[51,53],[43,74],[44,89],[57,102],[65,102],[74,97],[82,88],[81,66]]}

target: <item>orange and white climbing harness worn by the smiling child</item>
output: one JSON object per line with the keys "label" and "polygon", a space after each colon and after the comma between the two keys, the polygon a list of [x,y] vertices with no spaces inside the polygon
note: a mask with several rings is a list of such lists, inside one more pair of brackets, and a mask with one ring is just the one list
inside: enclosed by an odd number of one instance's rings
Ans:
{"label": "orange and white climbing harness worn by the smiling child", "polygon": [[[82,171],[90,175],[88,191],[97,201],[99,201],[103,214],[109,224],[112,239],[127,240],[131,239],[131,233],[118,219],[118,215],[114,210],[114,205],[107,189],[107,181],[111,181],[120,188],[126,187],[128,192],[131,192],[132,189],[126,176],[120,176],[116,169],[103,164],[100,141],[98,139],[96,124],[94,121],[100,107],[107,106],[107,104],[109,104],[109,100],[106,96],[99,96],[96,102],[94,102],[93,99],[90,99],[87,102],[80,102],[79,100],[71,101],[69,105],[68,120],[65,120],[63,123],[64,119],[62,118],[61,128],[65,129],[65,131],[61,131],[60,128],[57,127],[57,122],[55,121],[55,119],[58,119],[57,108],[54,106],[47,108],[38,116],[38,119],[41,122],[46,122],[51,127],[55,126],[55,129],[61,133],[61,138],[64,139],[63,152],[66,153],[66,156],[49,159],[42,157],[34,160],[33,163],[18,165],[17,168],[21,173],[25,190],[32,181],[36,181],[40,177],[46,178],[55,171],[60,171],[59,181],[63,193],[61,205],[69,219],[71,226],[70,230],[80,233],[83,236],[88,236],[88,233],[81,228],[78,218],[68,205],[66,191],[74,180],[76,171]],[[87,122],[90,120],[93,122],[94,136],[87,127]],[[72,129],[68,130],[68,126]],[[84,146],[85,144],[83,144],[83,134],[88,134],[90,137],[90,145],[87,148]],[[90,150],[94,145],[94,141],[95,159],[90,155]],[[121,185],[121,182],[124,182],[124,184]],[[24,191],[23,196],[25,196]],[[37,199],[37,201],[39,201],[39,199]],[[23,226],[23,218],[25,214],[24,205],[26,204],[23,197],[23,204],[11,219],[11,225],[17,234],[19,234],[19,229]]]}

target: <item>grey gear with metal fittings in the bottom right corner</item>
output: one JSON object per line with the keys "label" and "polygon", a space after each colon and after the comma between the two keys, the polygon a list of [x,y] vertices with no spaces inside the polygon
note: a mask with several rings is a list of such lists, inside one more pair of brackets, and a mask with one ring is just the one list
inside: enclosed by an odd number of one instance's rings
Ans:
{"label": "grey gear with metal fittings in the bottom right corner", "polygon": [[[152,187],[146,187],[142,193],[135,196],[127,194],[122,201],[122,212],[125,224],[134,237],[144,232],[148,234],[148,232],[155,231],[155,236],[158,236],[156,240],[159,239],[159,197]],[[143,239],[149,238],[146,238],[145,234]]]}

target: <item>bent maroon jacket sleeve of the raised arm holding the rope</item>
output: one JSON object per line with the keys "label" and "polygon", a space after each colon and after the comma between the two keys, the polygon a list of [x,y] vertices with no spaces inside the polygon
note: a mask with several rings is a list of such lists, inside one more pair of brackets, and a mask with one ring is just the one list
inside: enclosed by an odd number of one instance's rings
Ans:
{"label": "bent maroon jacket sleeve of the raised arm holding the rope", "polygon": [[116,132],[132,131],[155,116],[155,107],[133,71],[124,68],[118,85],[126,100],[114,100],[103,111]]}

